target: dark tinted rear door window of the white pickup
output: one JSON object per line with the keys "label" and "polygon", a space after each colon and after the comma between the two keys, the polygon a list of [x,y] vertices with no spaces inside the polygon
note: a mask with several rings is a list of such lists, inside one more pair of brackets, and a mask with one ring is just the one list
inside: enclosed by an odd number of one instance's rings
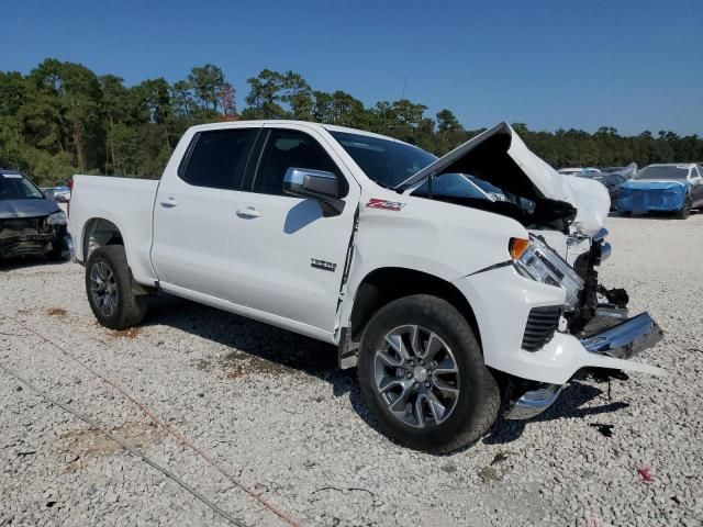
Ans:
{"label": "dark tinted rear door window of the white pickup", "polygon": [[197,187],[236,190],[242,184],[250,145],[258,128],[200,132],[179,175]]}

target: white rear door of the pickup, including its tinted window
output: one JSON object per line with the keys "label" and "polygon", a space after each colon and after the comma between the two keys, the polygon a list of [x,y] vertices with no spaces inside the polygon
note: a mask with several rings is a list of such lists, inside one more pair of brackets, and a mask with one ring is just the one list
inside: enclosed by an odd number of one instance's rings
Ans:
{"label": "white rear door of the pickup, including its tinted window", "polygon": [[152,261],[165,290],[230,295],[235,199],[259,130],[199,132],[180,166],[164,175],[154,206]]}

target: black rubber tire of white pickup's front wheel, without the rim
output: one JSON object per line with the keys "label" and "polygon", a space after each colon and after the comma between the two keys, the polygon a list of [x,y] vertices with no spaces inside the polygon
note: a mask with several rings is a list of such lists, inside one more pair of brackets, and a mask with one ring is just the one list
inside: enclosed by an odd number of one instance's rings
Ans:
{"label": "black rubber tire of white pickup's front wheel, without the rim", "polygon": [[[378,362],[377,350],[387,347],[389,332],[408,325],[421,326],[438,336],[442,344],[446,343],[458,375],[458,395],[453,410],[444,421],[439,422],[435,416],[434,422],[425,423],[424,427],[401,421],[390,410],[395,403],[384,401],[377,384],[378,365],[383,365],[383,361]],[[435,368],[438,371],[436,363]],[[391,371],[397,370],[391,368]],[[364,400],[381,431],[401,445],[426,452],[443,453],[472,445],[493,425],[501,405],[499,385],[483,363],[473,330],[451,304],[436,296],[405,296],[387,304],[373,315],[361,338],[358,375]],[[413,378],[412,382],[415,380]],[[419,384],[422,390],[422,382],[414,383],[414,390]],[[408,408],[413,405],[404,407],[405,415],[410,415]],[[431,417],[429,411],[426,412]]]}

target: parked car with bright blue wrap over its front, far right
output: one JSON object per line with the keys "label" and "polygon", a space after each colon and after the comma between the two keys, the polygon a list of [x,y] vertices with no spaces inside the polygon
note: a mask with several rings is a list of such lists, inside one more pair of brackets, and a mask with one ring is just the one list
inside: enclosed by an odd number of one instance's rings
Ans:
{"label": "parked car with bright blue wrap over its front, far right", "polygon": [[617,211],[671,212],[685,220],[703,206],[703,167],[693,162],[649,165],[620,187]]}

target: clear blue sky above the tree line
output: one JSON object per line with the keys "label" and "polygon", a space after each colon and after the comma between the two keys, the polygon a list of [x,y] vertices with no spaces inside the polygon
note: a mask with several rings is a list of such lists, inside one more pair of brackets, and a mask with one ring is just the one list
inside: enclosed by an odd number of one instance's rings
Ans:
{"label": "clear blue sky above the tree line", "polygon": [[0,70],[46,57],[127,83],[292,69],[366,104],[405,96],[467,127],[703,135],[703,1],[2,1]]}

